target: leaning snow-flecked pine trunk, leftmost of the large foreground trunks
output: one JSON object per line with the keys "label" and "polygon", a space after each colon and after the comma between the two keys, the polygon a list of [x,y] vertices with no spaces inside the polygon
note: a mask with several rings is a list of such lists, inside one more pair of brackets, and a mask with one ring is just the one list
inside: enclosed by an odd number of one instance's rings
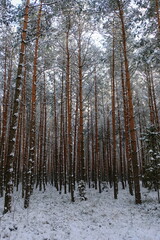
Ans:
{"label": "leaning snow-flecked pine trunk, leftmost of the large foreground trunks", "polygon": [[4,213],[11,211],[11,202],[12,202],[12,193],[13,193],[13,162],[14,162],[14,153],[15,153],[15,138],[16,130],[18,125],[18,115],[19,115],[19,106],[20,106],[20,94],[21,94],[21,85],[22,85],[22,71],[24,64],[24,53],[25,53],[25,41],[27,36],[27,26],[28,26],[28,13],[29,13],[29,4],[30,0],[26,1],[25,14],[24,14],[24,23],[22,30],[22,41],[20,47],[20,56],[19,56],[19,65],[17,70],[16,78],[16,87],[13,103],[13,111],[11,114],[11,124],[9,129],[8,137],[8,151],[7,151],[7,162],[6,162],[6,193],[4,201]]}

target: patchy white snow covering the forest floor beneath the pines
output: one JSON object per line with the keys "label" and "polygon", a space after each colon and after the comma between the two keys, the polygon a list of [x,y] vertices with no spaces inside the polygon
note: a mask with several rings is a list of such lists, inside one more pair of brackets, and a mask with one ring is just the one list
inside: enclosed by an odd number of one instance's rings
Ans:
{"label": "patchy white snow covering the forest floor beneath the pines", "polygon": [[2,215],[0,199],[0,240],[160,240],[160,204],[156,193],[146,194],[135,205],[128,190],[101,194],[87,189],[87,201],[70,202],[53,187],[35,190],[30,207],[23,209],[20,193],[14,197],[12,213]]}

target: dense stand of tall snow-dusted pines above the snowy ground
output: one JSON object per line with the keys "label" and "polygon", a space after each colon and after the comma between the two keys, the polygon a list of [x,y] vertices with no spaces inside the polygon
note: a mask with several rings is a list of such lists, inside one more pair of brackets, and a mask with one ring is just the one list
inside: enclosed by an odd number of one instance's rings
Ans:
{"label": "dense stand of tall snow-dusted pines above the snowy ground", "polygon": [[[160,1],[0,2],[0,197],[107,184],[160,202]],[[121,183],[118,184],[118,183]],[[118,189],[119,186],[119,189]]]}

